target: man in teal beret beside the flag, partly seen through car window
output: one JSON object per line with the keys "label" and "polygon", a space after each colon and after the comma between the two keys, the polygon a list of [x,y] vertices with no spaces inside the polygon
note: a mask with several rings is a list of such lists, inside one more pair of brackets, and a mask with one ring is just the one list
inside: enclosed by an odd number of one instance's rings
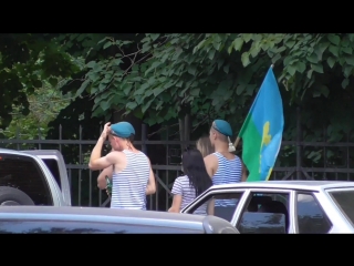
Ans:
{"label": "man in teal beret beside the flag, partly seen through car window", "polygon": [[[225,120],[215,120],[211,124],[209,139],[215,147],[215,153],[205,157],[206,168],[212,178],[214,185],[238,183],[247,180],[246,168],[241,160],[232,154],[235,146],[230,137],[232,130]],[[215,208],[209,209],[209,214],[231,221],[236,208],[233,200],[216,200]]]}

